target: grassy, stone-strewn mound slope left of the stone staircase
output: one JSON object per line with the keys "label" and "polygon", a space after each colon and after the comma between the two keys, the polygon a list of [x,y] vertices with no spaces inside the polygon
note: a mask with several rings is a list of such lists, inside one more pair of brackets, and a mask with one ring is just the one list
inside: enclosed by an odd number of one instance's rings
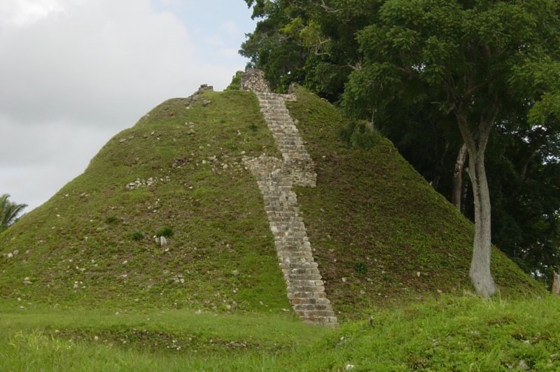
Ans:
{"label": "grassy, stone-strewn mound slope left of the stone staircase", "polygon": [[[1,234],[0,296],[289,308],[262,196],[241,164],[243,154],[279,155],[258,101],[248,92],[207,91],[188,103],[153,109]],[[167,246],[156,245],[158,234]]]}

